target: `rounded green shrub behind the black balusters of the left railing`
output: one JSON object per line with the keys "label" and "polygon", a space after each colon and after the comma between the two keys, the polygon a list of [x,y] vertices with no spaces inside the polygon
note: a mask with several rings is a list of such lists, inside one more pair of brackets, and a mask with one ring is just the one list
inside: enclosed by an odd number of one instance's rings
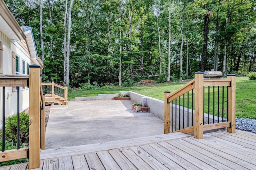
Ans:
{"label": "rounded green shrub behind the black balusters of the left railing", "polygon": [[[5,137],[8,142],[17,144],[17,114],[14,114],[6,119]],[[28,143],[28,124],[29,115],[20,113],[20,144]],[[2,138],[2,133],[0,134]]]}

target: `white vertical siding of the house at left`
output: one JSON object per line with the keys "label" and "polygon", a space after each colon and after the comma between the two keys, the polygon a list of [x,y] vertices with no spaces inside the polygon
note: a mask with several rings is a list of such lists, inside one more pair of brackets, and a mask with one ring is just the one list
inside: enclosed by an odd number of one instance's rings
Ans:
{"label": "white vertical siding of the house at left", "polygon": [[[20,56],[20,68],[22,68],[22,59],[30,64],[30,56],[22,52],[6,35],[0,30],[0,41],[3,43],[3,74],[12,74],[12,51]],[[24,51],[24,50],[23,50]],[[27,65],[26,65],[27,67]],[[27,68],[28,69],[28,68]],[[10,93],[7,99],[7,92]],[[2,121],[3,109],[3,90],[0,87],[0,120]],[[5,88],[5,115],[6,117],[17,113],[17,91],[12,92],[12,87]],[[20,112],[28,108],[29,90],[20,87]]]}

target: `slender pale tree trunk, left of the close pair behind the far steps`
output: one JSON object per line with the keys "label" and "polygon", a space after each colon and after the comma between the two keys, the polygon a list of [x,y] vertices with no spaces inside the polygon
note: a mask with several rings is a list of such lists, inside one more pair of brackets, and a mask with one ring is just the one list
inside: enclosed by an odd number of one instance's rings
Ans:
{"label": "slender pale tree trunk, left of the close pair behind the far steps", "polygon": [[65,84],[67,84],[66,81],[66,60],[67,60],[67,15],[68,15],[68,0],[65,2],[65,15],[64,15],[64,59],[63,59],[63,81]]}

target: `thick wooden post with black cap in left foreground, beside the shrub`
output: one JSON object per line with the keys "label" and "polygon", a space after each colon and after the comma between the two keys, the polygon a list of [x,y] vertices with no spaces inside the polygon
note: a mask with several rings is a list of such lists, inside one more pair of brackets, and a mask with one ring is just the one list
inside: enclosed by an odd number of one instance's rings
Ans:
{"label": "thick wooden post with black cap in left foreground, beside the shrub", "polygon": [[40,66],[29,65],[29,169],[40,166]]}

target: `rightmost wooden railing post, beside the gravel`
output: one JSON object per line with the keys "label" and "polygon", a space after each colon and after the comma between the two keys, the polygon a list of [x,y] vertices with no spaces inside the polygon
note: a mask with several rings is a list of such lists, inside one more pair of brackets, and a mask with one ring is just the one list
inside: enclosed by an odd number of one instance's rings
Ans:
{"label": "rightmost wooden railing post, beside the gravel", "polygon": [[227,128],[227,132],[236,132],[236,75],[228,74],[228,79],[231,79],[230,87],[228,87],[228,121],[230,127]]}

